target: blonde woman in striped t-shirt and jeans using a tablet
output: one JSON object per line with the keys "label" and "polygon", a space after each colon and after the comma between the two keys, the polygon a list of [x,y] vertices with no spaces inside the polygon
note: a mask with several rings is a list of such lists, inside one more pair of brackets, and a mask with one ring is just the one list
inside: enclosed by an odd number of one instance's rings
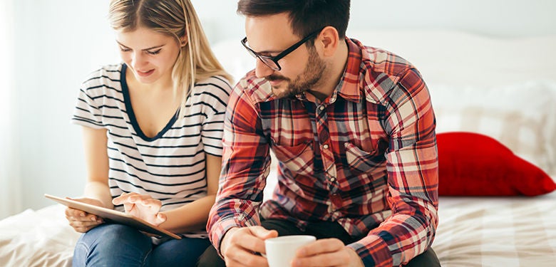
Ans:
{"label": "blonde woman in striped t-shirt and jeans using a tablet", "polygon": [[88,182],[78,200],[183,238],[68,208],[69,224],[84,233],[73,266],[194,266],[210,245],[230,75],[189,0],[113,0],[109,20],[123,63],[93,72],[81,88],[73,122],[83,126]]}

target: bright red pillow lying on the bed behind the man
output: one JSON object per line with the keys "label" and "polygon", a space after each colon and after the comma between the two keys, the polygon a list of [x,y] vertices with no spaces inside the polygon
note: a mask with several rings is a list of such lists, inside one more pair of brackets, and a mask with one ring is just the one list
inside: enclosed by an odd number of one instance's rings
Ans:
{"label": "bright red pillow lying on the bed behind the man", "polygon": [[436,142],[441,196],[537,196],[556,189],[542,169],[492,137],[443,132]]}

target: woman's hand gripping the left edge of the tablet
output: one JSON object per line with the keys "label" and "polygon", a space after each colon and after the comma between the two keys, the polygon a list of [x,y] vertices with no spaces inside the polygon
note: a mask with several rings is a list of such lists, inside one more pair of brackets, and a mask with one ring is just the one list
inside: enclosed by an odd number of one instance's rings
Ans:
{"label": "woman's hand gripping the left edge of the tablet", "polygon": [[[73,200],[95,206],[103,206],[102,202],[98,199],[81,198]],[[86,233],[99,224],[104,223],[103,219],[95,214],[89,214],[85,211],[72,209],[70,207],[66,209],[66,219],[68,219],[69,225],[79,233]]]}

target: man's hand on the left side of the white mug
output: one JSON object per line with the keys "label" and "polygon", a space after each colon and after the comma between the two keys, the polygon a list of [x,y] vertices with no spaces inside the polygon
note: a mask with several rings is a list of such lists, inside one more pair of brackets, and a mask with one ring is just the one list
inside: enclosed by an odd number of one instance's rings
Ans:
{"label": "man's hand on the left side of the white mug", "polygon": [[277,231],[269,231],[262,226],[230,229],[222,239],[220,246],[226,266],[268,266],[267,258],[256,253],[266,253],[264,240],[277,236]]}

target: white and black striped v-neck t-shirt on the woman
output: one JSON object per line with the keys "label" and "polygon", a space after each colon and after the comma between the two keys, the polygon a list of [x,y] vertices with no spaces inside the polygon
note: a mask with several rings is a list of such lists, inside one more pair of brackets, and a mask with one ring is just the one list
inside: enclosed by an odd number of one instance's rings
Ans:
{"label": "white and black striped v-neck t-shirt on the woman", "polygon": [[[222,129],[230,83],[220,76],[195,84],[185,115],[176,115],[155,137],[140,130],[125,64],[91,73],[81,86],[72,122],[108,136],[108,184],[112,197],[123,192],[160,199],[161,211],[178,208],[207,195],[205,153],[222,156]],[[115,206],[123,211],[123,205]],[[199,236],[205,232],[189,233]]]}

